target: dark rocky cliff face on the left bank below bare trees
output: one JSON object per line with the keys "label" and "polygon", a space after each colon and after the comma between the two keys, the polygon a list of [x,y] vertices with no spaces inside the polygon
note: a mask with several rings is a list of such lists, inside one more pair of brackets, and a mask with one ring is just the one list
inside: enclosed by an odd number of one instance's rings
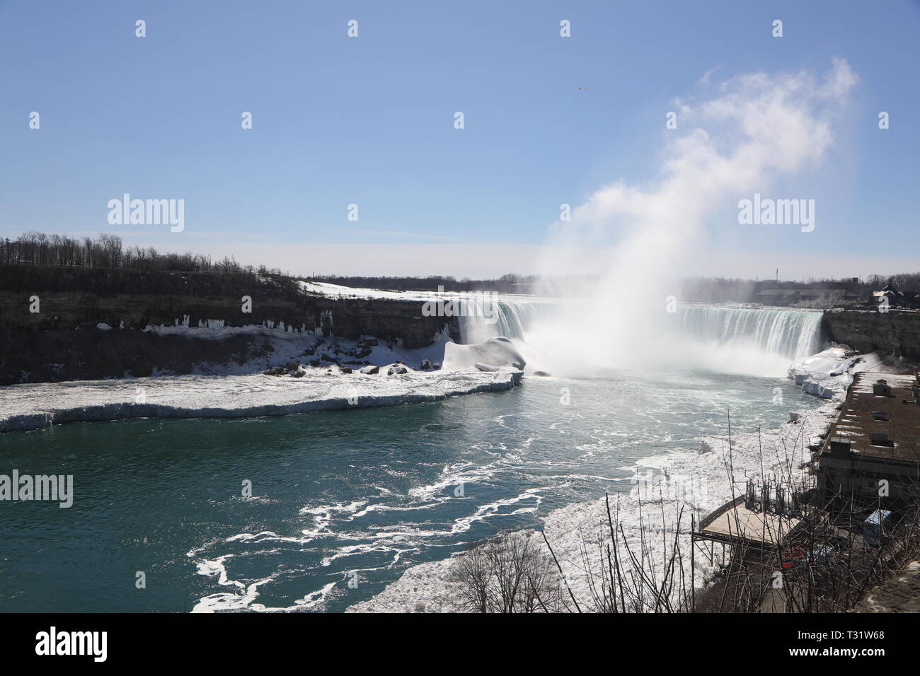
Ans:
{"label": "dark rocky cliff face on the left bank below bare trees", "polygon": [[[272,322],[316,337],[374,336],[408,349],[431,345],[455,318],[424,316],[421,303],[391,299],[329,298],[277,289],[247,290],[242,297],[194,293],[22,292],[0,290],[0,384],[149,375],[152,369],[190,372],[196,364],[241,365],[271,350],[258,336],[199,340],[157,336],[141,329],[208,320],[243,327]],[[36,308],[38,298],[39,312]],[[99,331],[98,324],[114,329]]]}

